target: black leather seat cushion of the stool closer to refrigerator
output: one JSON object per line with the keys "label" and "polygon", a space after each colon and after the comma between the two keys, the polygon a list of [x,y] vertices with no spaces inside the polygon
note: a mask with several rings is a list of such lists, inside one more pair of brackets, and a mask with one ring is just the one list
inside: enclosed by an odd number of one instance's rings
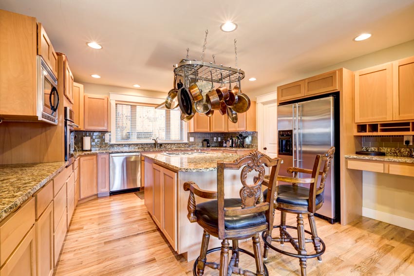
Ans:
{"label": "black leather seat cushion of the stool closer to refrigerator", "polygon": [[[309,205],[309,188],[294,186],[294,185],[279,185],[278,188],[278,199],[277,202],[308,206]],[[267,196],[267,189],[263,191],[264,199]],[[323,196],[319,194],[316,196],[316,205],[322,202]]]}

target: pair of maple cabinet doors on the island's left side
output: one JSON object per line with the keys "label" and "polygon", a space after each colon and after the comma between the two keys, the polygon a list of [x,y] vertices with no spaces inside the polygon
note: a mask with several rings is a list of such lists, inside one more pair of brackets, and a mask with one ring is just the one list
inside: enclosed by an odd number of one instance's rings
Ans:
{"label": "pair of maple cabinet doors on the island's left side", "polygon": [[152,165],[153,215],[174,250],[177,249],[177,173]]}

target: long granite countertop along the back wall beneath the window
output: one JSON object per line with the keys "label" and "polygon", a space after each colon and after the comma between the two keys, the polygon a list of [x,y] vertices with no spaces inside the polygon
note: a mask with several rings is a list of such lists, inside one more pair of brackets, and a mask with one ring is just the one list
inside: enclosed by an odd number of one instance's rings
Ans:
{"label": "long granite countertop along the back wall beneath the window", "polygon": [[117,153],[117,152],[151,152],[151,151],[196,151],[196,150],[231,150],[237,152],[238,150],[254,150],[254,148],[243,148],[243,147],[176,147],[176,148],[139,148],[139,149],[99,149],[99,150],[79,150],[76,151],[74,157],[88,154],[97,154],[97,153]]}

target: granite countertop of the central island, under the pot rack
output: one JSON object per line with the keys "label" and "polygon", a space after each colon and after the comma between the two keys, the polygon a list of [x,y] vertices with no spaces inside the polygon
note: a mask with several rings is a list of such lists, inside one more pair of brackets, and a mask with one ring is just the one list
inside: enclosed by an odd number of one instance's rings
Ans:
{"label": "granite countertop of the central island, under the pot rack", "polygon": [[203,155],[167,156],[161,153],[144,153],[156,163],[178,171],[198,172],[217,170],[217,161],[234,161],[240,155],[211,152]]}

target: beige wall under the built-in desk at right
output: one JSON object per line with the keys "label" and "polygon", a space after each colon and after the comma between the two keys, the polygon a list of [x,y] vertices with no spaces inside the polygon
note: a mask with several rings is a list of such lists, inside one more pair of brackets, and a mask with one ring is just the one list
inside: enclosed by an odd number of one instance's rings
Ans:
{"label": "beige wall under the built-in desk at right", "polygon": [[363,172],[362,206],[414,220],[414,177]]}

